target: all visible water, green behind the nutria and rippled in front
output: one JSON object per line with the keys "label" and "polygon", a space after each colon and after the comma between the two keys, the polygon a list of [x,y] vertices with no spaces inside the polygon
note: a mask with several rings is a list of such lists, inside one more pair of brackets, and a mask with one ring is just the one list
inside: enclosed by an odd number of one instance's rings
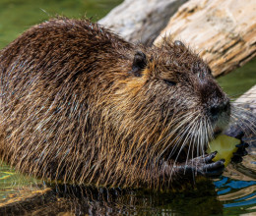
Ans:
{"label": "all visible water, green behind the nutria and rippled in front", "polygon": [[[0,47],[28,27],[56,14],[72,18],[82,18],[86,14],[98,20],[120,2],[0,0]],[[256,83],[255,68],[256,59],[218,81],[229,95],[237,97]],[[255,215],[256,150],[252,148],[241,164],[230,164],[224,176],[214,184],[199,184],[197,189],[181,193],[48,186],[2,165],[0,213],[3,212],[14,215],[26,212],[35,215]]]}

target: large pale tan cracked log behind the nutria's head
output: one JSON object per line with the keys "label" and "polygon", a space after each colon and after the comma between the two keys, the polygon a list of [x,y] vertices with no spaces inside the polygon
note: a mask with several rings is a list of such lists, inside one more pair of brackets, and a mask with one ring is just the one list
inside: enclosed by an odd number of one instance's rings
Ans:
{"label": "large pale tan cracked log behind the nutria's head", "polygon": [[255,0],[191,0],[155,40],[167,35],[189,44],[208,61],[214,76],[227,74],[256,55]]}

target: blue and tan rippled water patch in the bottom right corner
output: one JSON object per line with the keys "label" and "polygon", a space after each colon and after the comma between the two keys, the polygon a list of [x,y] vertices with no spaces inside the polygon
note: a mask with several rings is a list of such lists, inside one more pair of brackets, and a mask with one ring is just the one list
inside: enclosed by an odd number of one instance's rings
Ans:
{"label": "blue and tan rippled water patch in the bottom right corner", "polygon": [[224,206],[224,213],[256,212],[255,161],[255,155],[248,155],[241,164],[230,164],[224,177],[215,182],[218,198]]}

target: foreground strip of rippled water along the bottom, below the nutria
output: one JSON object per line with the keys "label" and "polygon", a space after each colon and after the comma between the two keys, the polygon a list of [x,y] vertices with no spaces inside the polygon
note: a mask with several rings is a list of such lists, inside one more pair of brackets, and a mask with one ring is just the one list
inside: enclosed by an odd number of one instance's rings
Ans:
{"label": "foreground strip of rippled water along the bottom, below the nutria", "polygon": [[45,185],[3,166],[0,214],[33,215],[229,215],[255,213],[255,155],[230,164],[214,182],[185,192],[94,189]]}

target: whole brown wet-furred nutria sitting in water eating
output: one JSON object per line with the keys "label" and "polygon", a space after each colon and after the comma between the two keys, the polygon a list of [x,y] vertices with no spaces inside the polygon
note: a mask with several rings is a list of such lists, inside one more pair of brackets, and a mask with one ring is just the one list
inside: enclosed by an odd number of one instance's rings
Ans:
{"label": "whole brown wet-furred nutria sitting in water eating", "polygon": [[0,155],[22,173],[162,188],[224,171],[204,151],[228,123],[229,99],[180,41],[145,47],[52,19],[4,48],[0,70]]}

